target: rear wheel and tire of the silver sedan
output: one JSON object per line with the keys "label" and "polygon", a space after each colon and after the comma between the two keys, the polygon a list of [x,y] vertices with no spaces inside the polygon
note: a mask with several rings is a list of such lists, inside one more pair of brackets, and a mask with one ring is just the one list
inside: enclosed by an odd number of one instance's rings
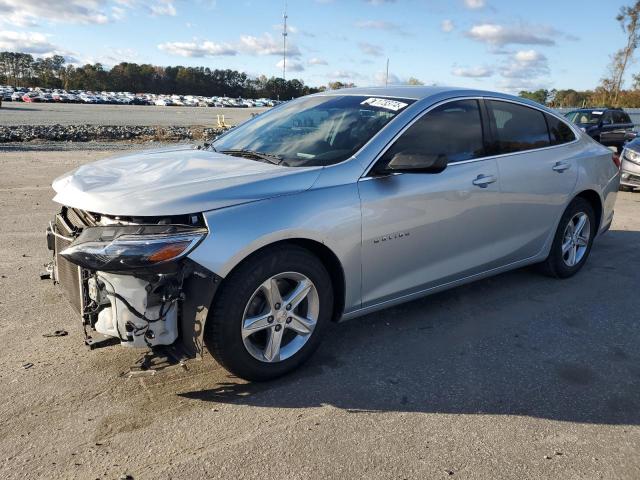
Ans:
{"label": "rear wheel and tire of the silver sedan", "polygon": [[597,233],[595,213],[584,198],[575,198],[562,214],[542,272],[555,278],[569,278],[584,266]]}

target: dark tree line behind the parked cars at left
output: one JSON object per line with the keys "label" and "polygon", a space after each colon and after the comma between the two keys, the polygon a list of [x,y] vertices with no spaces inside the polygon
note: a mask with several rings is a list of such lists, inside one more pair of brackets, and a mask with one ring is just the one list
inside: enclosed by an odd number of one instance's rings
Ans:
{"label": "dark tree line behind the parked cars at left", "polygon": [[302,80],[208,67],[161,67],[121,62],[111,68],[100,63],[75,66],[64,57],[34,58],[28,53],[0,52],[0,84],[64,90],[116,91],[243,98],[297,98],[320,91]]}

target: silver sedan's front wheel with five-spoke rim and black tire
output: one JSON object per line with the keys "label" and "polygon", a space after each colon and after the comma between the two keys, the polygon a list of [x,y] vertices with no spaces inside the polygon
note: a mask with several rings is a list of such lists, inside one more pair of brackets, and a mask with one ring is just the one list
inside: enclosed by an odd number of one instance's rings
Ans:
{"label": "silver sedan's front wheel with five-spoke rim and black tire", "polygon": [[319,346],[333,310],[327,270],[295,245],[264,250],[224,281],[205,326],[205,344],[246,380],[280,377]]}

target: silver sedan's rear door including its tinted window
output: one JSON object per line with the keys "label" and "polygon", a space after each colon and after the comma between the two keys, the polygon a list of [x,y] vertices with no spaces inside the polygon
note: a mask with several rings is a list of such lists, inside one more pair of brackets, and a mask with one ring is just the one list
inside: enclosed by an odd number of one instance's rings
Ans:
{"label": "silver sedan's rear door including its tinted window", "polygon": [[560,118],[510,101],[487,100],[498,154],[499,223],[506,263],[540,252],[569,201],[578,169],[572,129]]}

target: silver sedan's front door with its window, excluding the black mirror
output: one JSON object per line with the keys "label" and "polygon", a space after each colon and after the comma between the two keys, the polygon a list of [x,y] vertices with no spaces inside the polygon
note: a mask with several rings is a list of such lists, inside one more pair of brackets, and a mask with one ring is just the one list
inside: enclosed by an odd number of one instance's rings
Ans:
{"label": "silver sedan's front door with its window, excluding the black mirror", "polygon": [[446,155],[442,172],[360,179],[363,308],[502,265],[499,175],[486,158],[481,105],[465,99],[433,108],[379,160],[402,151]]}

